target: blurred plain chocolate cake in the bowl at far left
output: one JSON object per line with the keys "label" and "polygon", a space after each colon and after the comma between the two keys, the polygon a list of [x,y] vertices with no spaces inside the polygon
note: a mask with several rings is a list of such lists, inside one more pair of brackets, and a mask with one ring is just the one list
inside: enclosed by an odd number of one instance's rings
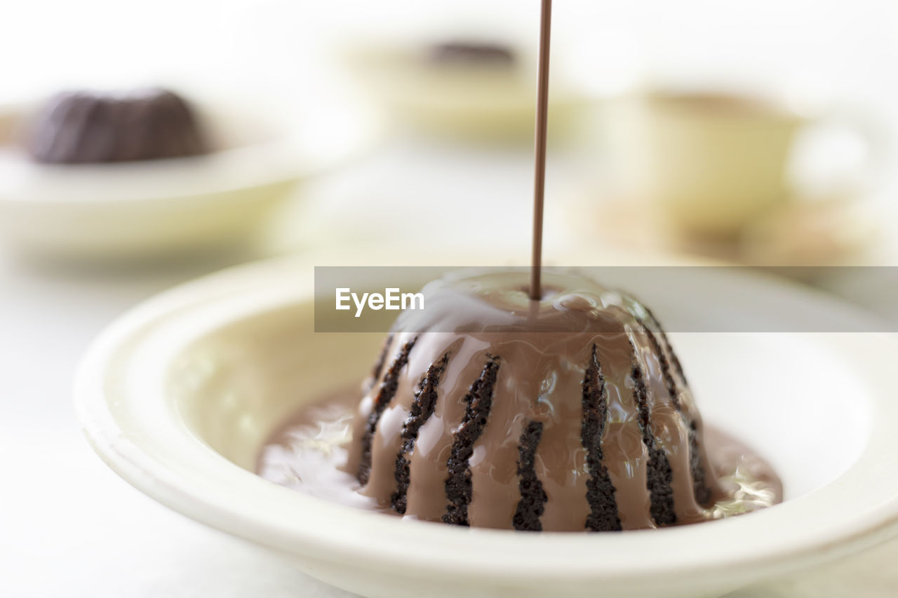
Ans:
{"label": "blurred plain chocolate cake in the bowl at far left", "polygon": [[163,89],[126,93],[62,92],[31,125],[40,163],[112,163],[205,154],[189,104]]}

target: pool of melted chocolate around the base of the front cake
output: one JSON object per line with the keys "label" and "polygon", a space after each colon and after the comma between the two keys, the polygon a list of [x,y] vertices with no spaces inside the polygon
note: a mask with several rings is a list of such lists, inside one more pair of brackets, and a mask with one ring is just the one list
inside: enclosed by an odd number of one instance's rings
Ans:
{"label": "pool of melted chocolate around the base of the front cake", "polygon": [[[256,472],[313,497],[396,515],[389,503],[379,504],[359,492],[356,476],[345,469],[358,392],[358,386],[353,386],[305,405],[262,448]],[[782,483],[776,472],[747,445],[707,424],[705,444],[724,490],[724,496],[705,509],[705,521],[750,513],[782,501]]]}

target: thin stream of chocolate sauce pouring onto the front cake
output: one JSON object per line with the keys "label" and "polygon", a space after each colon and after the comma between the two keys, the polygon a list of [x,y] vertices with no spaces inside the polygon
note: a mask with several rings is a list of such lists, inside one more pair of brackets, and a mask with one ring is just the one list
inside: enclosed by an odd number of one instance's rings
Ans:
{"label": "thin stream of chocolate sauce pouring onto the front cake", "polygon": [[536,87],[536,158],[533,176],[533,255],[530,270],[530,298],[542,295],[542,203],[546,188],[546,126],[549,120],[549,48],[552,28],[552,0],[542,0],[540,19],[540,66]]}

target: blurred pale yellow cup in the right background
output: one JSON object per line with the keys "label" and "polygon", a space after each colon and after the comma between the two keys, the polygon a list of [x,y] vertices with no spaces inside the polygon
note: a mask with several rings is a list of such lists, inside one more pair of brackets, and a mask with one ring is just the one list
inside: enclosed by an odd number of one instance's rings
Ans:
{"label": "blurred pale yellow cup in the right background", "polygon": [[631,190],[679,232],[717,238],[796,194],[797,135],[821,120],[722,92],[653,92],[622,106],[615,128],[625,149],[616,158],[636,181]]}

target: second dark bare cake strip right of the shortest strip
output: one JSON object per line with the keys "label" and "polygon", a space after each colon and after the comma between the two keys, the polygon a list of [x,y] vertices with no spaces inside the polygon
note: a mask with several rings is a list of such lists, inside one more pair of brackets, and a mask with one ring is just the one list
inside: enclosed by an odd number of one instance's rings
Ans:
{"label": "second dark bare cake strip right of the shortest strip", "polygon": [[673,525],[676,523],[674,512],[674,489],[671,483],[674,472],[663,449],[658,447],[655,435],[652,432],[652,421],[648,412],[648,391],[646,382],[642,377],[642,368],[639,366],[636,346],[630,341],[633,366],[630,375],[633,379],[633,398],[639,414],[639,428],[642,430],[642,442],[648,450],[648,493],[651,498],[649,513],[658,525]]}

